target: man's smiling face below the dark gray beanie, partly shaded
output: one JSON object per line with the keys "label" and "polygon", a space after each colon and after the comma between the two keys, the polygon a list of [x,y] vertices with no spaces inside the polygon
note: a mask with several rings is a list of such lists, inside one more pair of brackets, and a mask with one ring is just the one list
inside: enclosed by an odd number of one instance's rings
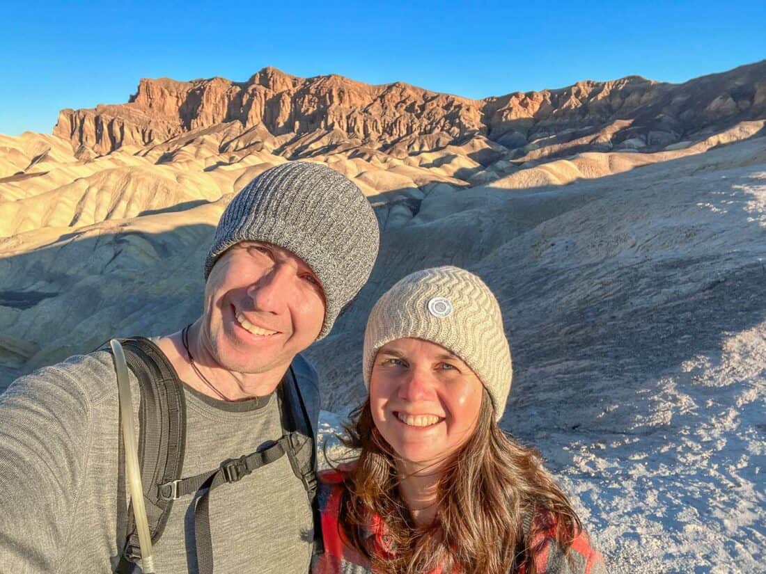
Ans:
{"label": "man's smiling face below the dark gray beanie, partly shaded", "polygon": [[290,251],[246,241],[228,249],[205,284],[202,341],[237,373],[286,371],[319,335],[325,298],[319,279]]}

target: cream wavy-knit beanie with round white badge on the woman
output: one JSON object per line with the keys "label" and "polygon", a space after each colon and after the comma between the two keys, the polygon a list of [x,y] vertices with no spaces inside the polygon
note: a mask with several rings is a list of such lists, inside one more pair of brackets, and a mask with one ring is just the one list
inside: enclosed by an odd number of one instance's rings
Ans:
{"label": "cream wavy-knit beanie with round white badge on the woman", "polygon": [[452,351],[489,392],[495,419],[511,390],[511,349],[495,295],[473,273],[444,266],[411,273],[388,289],[370,311],[365,330],[365,386],[375,355],[390,341],[424,339]]}

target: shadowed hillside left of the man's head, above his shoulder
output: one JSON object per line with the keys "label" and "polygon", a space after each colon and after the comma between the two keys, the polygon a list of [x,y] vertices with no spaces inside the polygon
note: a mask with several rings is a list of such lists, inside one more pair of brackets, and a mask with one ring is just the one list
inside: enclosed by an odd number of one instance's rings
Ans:
{"label": "shadowed hillside left of the man's head, above his shoulder", "polygon": [[0,390],[108,338],[165,334],[193,321],[214,229],[73,232],[28,253],[0,256]]}

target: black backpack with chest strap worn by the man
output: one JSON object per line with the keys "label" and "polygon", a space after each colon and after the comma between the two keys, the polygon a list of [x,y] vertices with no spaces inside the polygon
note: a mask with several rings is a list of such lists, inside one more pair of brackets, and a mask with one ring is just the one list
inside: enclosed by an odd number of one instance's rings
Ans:
{"label": "black backpack with chest strap worn by the man", "polygon": [[[149,519],[152,543],[162,536],[173,501],[186,494],[203,491],[195,506],[195,539],[200,574],[213,572],[213,548],[208,517],[209,492],[221,484],[236,482],[261,466],[283,455],[300,478],[314,513],[314,552],[322,551],[321,521],[316,501],[316,429],[319,419],[319,385],[316,370],[296,355],[277,399],[283,426],[282,437],[268,448],[221,462],[218,468],[200,475],[181,478],[186,405],[181,381],[162,351],[146,338],[120,339],[130,370],[139,380],[139,461],[144,504]],[[106,347],[107,351],[109,350]],[[120,420],[119,424],[123,425]],[[120,432],[118,502],[125,500],[125,455]],[[125,504],[120,506],[125,507]],[[120,517],[123,514],[123,517]],[[129,574],[141,558],[133,504],[118,513],[118,540],[126,540],[114,572]]]}

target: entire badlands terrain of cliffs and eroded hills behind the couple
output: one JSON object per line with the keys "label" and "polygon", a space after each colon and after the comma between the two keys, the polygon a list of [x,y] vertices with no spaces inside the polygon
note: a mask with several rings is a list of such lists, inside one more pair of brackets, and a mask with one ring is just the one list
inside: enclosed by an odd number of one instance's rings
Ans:
{"label": "entire badlands terrain of cliffs and eroded hills behind the couple", "polygon": [[[758,572],[766,543],[766,62],[483,100],[403,83],[142,80],[129,103],[0,136],[0,390],[201,307],[231,198],[324,161],[368,194],[381,255],[309,351],[324,407],[363,396],[369,308],[453,263],[498,295],[533,442],[613,572]],[[326,415],[326,424],[333,420]]]}

